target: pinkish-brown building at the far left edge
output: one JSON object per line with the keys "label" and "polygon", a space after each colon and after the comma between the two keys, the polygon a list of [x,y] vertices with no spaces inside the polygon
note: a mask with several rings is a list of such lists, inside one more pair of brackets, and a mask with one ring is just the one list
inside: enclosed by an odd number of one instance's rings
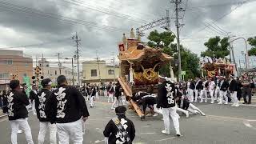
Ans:
{"label": "pinkish-brown building at the far left edge", "polygon": [[31,78],[32,73],[32,57],[23,54],[22,50],[0,50],[0,90],[6,89],[11,79],[22,83],[23,78]]}

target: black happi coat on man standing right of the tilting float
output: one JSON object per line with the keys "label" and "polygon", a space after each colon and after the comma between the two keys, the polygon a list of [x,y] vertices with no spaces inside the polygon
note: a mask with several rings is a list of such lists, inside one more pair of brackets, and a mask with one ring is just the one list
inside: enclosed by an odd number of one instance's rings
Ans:
{"label": "black happi coat on man standing right of the tilting float", "polygon": [[[169,86],[170,94],[168,94],[166,87]],[[170,108],[175,106],[175,98],[180,95],[178,90],[175,88],[174,83],[162,82],[158,85],[158,99],[157,107],[160,108]]]}

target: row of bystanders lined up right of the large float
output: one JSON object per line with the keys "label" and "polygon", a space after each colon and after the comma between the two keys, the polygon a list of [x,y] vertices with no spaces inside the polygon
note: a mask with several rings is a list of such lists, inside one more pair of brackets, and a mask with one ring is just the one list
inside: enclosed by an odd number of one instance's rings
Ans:
{"label": "row of bystanders lined up right of the large float", "polygon": [[214,78],[195,78],[188,82],[179,84],[183,89],[183,93],[187,96],[190,102],[218,102],[218,104],[228,104],[238,107],[239,101],[243,98],[243,104],[251,104],[252,90],[254,89],[254,81],[243,74],[241,78],[234,77],[230,74],[228,78],[223,75]]}

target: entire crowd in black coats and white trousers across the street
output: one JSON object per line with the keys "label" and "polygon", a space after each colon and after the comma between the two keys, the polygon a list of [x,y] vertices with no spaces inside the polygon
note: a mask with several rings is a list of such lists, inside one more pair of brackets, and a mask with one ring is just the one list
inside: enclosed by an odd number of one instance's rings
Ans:
{"label": "entire crowd in black coats and white trousers across the street", "polygon": [[[33,114],[39,121],[38,144],[45,141],[46,131],[50,131],[50,144],[73,143],[82,144],[84,134],[84,122],[90,116],[87,110],[86,100],[90,107],[94,107],[94,100],[99,95],[108,97],[108,102],[113,102],[111,109],[115,110],[117,117],[108,122],[103,132],[106,143],[132,143],[135,138],[135,126],[126,118],[124,94],[119,82],[109,85],[87,84],[82,88],[69,86],[63,75],[57,78],[58,88],[52,89],[50,78],[43,79],[42,89],[33,86],[30,95],[26,95],[26,84],[20,84],[18,80],[10,81],[10,91],[2,91],[1,106],[4,113],[8,114],[11,127],[11,143],[17,144],[18,130],[22,129],[26,134],[26,141],[33,144],[30,125],[27,122],[28,109],[32,105]],[[176,135],[180,136],[179,114],[202,114],[192,102],[208,102],[228,104],[238,107],[238,101],[243,97],[244,104],[251,103],[251,90],[254,88],[248,74],[241,78],[235,78],[230,74],[229,78],[220,75],[214,78],[195,78],[188,82],[172,82],[170,78],[159,76],[158,91],[149,86],[146,91],[138,91],[133,94],[132,100],[142,107],[142,113],[146,115],[146,108],[150,109],[153,116],[162,114],[165,129],[163,134],[170,134],[170,118],[172,118]],[[248,100],[247,100],[248,97]],[[34,108],[33,108],[34,107]]]}

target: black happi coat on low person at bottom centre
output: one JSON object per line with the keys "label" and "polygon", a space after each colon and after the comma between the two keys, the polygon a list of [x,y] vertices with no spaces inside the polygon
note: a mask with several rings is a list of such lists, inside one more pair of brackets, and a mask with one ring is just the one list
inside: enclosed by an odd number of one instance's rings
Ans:
{"label": "black happi coat on low person at bottom centre", "polygon": [[[128,132],[130,141],[132,142],[135,138],[135,127],[134,123],[130,121],[130,119],[126,118],[126,116],[118,116],[119,121],[122,123],[122,126]],[[128,144],[125,140],[123,140],[118,127],[114,124],[113,120],[110,120],[103,131],[105,137],[109,137],[109,144],[115,143],[123,143]]]}

